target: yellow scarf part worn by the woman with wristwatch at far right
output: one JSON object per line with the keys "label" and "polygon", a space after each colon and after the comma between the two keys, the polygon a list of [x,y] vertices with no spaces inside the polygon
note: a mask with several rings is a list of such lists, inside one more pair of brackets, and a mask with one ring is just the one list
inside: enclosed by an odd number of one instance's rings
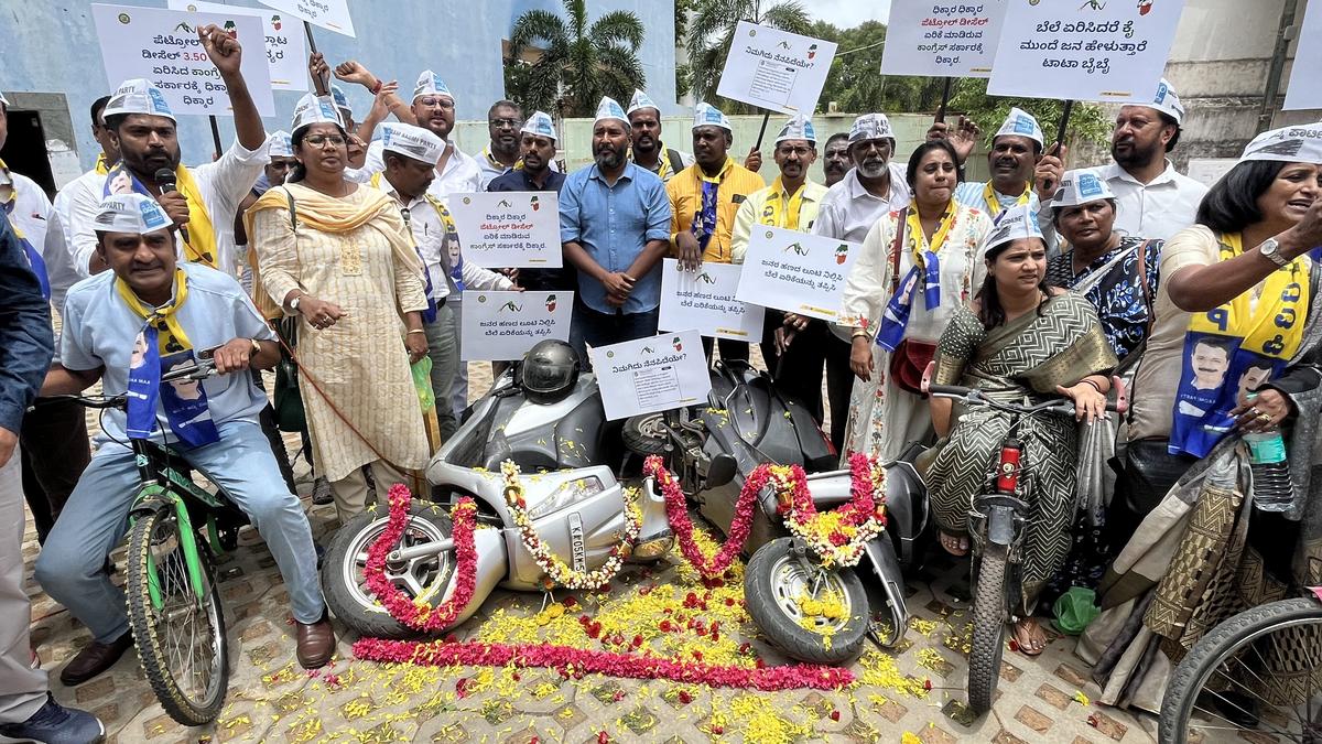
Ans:
{"label": "yellow scarf part worn by the woman with wristwatch at far right", "polygon": [[[1244,253],[1243,236],[1218,236],[1220,259]],[[1309,315],[1309,262],[1301,256],[1268,274],[1256,306],[1252,291],[1207,312],[1194,312],[1188,330],[1244,339],[1240,348],[1272,359],[1290,360],[1303,343],[1303,322]]]}

